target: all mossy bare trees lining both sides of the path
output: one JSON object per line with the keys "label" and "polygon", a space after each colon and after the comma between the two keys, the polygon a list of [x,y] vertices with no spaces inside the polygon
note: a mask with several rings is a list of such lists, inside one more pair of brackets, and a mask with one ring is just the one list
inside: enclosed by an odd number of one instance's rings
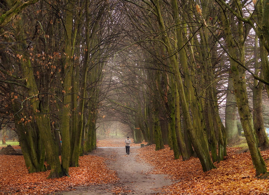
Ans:
{"label": "all mossy bare trees lining both sides of the path", "polygon": [[107,118],[128,125],[137,143],[169,144],[176,159],[196,155],[208,171],[238,137],[236,106],[256,175],[267,172],[258,148],[269,146],[266,1],[1,4],[1,116],[14,125],[29,172],[46,170],[46,160],[50,178],[68,176]]}

